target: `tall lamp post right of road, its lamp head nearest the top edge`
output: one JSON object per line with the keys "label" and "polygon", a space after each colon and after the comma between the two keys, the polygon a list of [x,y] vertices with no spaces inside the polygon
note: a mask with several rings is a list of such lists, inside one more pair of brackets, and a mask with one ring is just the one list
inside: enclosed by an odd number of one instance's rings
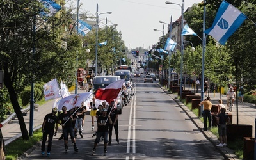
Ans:
{"label": "tall lamp post right of road, its lamp head nearest the top edge", "polygon": [[182,6],[180,4],[177,4],[177,3],[172,3],[172,2],[169,2],[169,1],[166,1],[165,2],[166,4],[175,4],[175,5],[178,5],[180,6],[181,8],[181,15],[182,15],[182,20],[181,20],[181,29],[180,29],[180,36],[181,36],[181,60],[180,60],[180,97],[182,95],[182,67],[183,67],[183,50],[184,50],[184,44],[183,44],[183,41],[184,41],[184,37],[183,35],[181,35],[181,31],[182,29],[184,28],[183,25],[184,25],[184,0],[182,0]]}

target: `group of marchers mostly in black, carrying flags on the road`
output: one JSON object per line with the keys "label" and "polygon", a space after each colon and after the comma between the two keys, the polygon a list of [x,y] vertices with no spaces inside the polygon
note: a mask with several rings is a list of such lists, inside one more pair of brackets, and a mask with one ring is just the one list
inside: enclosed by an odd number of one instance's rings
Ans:
{"label": "group of marchers mostly in black, carrying flags on the road", "polygon": [[[95,121],[97,122],[97,129],[93,136],[96,136],[92,154],[95,153],[97,144],[100,142],[100,138],[104,141],[104,153],[107,152],[107,145],[111,145],[112,141],[112,130],[115,129],[116,142],[119,144],[118,139],[118,111],[114,107],[115,102],[111,101],[108,105],[106,101],[102,102],[102,105],[95,106],[95,98],[93,97],[92,102],[90,102],[90,116],[92,117],[92,130],[95,129]],[[42,124],[43,140],[41,153],[45,154],[45,143],[48,138],[47,145],[47,156],[51,154],[52,138],[56,136],[58,131],[58,125],[62,127],[62,134],[58,140],[64,139],[65,152],[68,151],[68,136],[70,136],[72,141],[72,146],[75,152],[78,152],[78,147],[76,145],[77,132],[81,138],[83,138],[83,127],[84,127],[84,117],[87,111],[86,106],[81,104],[75,108],[67,111],[67,107],[63,106],[61,108],[62,112],[58,113],[57,108],[53,108],[52,112],[45,115],[44,122]],[[57,116],[58,113],[58,116]],[[54,132],[55,129],[55,132]],[[109,137],[108,137],[109,136]]]}

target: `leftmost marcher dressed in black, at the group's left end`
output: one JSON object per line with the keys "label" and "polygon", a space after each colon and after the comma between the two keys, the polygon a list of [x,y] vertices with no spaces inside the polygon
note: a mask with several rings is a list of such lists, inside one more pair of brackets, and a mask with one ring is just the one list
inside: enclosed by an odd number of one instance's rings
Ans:
{"label": "leftmost marcher dressed in black, at the group's left end", "polygon": [[45,153],[45,143],[48,136],[47,155],[50,155],[52,148],[52,138],[54,134],[55,124],[58,123],[58,116],[56,116],[57,108],[52,109],[52,113],[45,115],[44,122],[42,124],[43,140],[41,146],[41,154]]}

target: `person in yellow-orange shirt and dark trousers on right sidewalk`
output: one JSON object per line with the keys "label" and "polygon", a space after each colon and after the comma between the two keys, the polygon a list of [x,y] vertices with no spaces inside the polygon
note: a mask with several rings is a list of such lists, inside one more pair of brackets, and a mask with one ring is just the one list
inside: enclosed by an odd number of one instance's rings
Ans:
{"label": "person in yellow-orange shirt and dark trousers on right sidewalk", "polygon": [[208,124],[209,128],[212,127],[212,115],[211,115],[211,108],[212,108],[212,103],[210,102],[210,97],[207,97],[205,100],[200,102],[201,105],[204,106],[203,110],[203,118],[204,118],[204,131],[207,131],[207,118],[208,118]]}

